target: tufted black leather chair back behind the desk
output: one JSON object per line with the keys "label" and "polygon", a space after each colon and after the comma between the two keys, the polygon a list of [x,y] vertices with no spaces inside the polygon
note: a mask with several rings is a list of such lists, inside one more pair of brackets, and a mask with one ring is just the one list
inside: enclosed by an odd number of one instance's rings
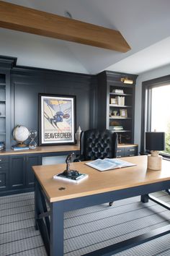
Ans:
{"label": "tufted black leather chair back behind the desk", "polygon": [[81,161],[95,160],[97,158],[117,157],[117,133],[108,129],[89,129],[81,132],[80,138]]}

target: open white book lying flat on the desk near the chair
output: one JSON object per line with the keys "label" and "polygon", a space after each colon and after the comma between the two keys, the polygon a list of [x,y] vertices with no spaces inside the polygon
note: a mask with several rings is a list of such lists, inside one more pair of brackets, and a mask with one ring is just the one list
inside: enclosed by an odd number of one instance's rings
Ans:
{"label": "open white book lying flat on the desk near the chair", "polygon": [[130,163],[117,158],[104,158],[97,159],[92,162],[86,163],[87,166],[91,166],[99,171],[107,171],[115,168],[123,168],[128,166],[136,166],[135,163]]}

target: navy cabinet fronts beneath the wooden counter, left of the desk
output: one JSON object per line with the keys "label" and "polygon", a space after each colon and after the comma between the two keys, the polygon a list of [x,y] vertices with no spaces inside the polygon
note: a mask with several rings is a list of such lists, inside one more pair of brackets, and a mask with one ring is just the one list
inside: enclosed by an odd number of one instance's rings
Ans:
{"label": "navy cabinet fronts beneath the wooden counter, left of the desk", "polygon": [[42,163],[40,154],[0,156],[0,195],[34,189],[32,166]]}

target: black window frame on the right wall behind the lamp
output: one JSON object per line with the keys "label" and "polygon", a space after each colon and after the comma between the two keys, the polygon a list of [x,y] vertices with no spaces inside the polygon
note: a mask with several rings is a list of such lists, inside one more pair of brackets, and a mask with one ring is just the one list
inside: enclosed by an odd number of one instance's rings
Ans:
{"label": "black window frame on the right wall behind the lamp", "polygon": [[[145,152],[145,134],[151,131],[151,94],[153,88],[170,85],[170,75],[142,82],[140,152]],[[170,158],[170,155],[165,155]]]}

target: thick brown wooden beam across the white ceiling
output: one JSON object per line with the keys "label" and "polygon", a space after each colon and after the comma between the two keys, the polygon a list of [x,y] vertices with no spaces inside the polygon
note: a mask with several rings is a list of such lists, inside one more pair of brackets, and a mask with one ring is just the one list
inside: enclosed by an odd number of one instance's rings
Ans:
{"label": "thick brown wooden beam across the white ceiling", "polygon": [[0,27],[127,52],[119,31],[0,1]]}

